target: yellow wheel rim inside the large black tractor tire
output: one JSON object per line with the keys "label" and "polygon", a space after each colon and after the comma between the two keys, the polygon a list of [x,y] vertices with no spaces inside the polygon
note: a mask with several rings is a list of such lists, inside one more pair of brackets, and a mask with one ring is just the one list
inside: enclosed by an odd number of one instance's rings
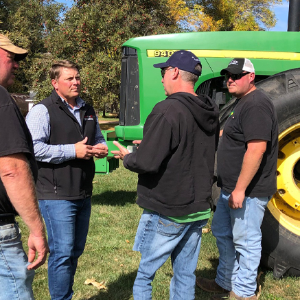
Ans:
{"label": "yellow wheel rim inside the large black tractor tire", "polygon": [[300,123],[279,135],[277,193],[268,209],[282,226],[300,235]]}

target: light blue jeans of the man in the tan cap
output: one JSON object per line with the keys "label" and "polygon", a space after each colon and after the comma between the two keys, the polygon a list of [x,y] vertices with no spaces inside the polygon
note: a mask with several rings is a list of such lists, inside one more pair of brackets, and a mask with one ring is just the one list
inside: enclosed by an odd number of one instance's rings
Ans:
{"label": "light blue jeans of the man in the tan cap", "polygon": [[0,226],[0,300],[34,299],[34,270],[28,265],[18,224]]}

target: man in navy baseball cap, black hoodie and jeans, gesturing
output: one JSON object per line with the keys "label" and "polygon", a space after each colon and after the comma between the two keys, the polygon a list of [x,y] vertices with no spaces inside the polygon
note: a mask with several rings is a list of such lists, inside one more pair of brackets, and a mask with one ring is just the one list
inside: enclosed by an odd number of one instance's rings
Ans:
{"label": "man in navy baseball cap, black hoodie and jeans, gesturing", "polygon": [[117,142],[112,151],[139,174],[137,204],[145,209],[133,246],[141,253],[133,297],[151,299],[154,275],[171,257],[170,299],[192,300],[201,229],[210,216],[218,108],[194,92],[202,68],[192,52],[176,51],[154,67],[168,97],[148,116],[137,151],[129,154]]}

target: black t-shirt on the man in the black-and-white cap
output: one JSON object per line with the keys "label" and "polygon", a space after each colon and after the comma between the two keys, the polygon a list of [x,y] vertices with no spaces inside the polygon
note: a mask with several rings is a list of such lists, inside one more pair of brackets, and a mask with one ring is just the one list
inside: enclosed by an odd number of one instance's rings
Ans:
{"label": "black t-shirt on the man in the black-and-white cap", "polygon": [[237,100],[224,125],[218,147],[218,186],[224,191],[231,193],[235,189],[246,143],[253,139],[268,142],[259,170],[246,189],[246,196],[271,196],[277,189],[278,122],[273,103],[259,89]]}

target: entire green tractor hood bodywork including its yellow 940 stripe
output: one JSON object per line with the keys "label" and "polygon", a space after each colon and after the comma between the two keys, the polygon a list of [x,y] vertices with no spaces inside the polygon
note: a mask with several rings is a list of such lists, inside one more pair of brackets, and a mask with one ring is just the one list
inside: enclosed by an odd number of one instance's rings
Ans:
{"label": "entire green tractor hood bodywork including its yellow 940 stripe", "polygon": [[[154,105],[165,99],[160,70],[153,64],[167,60],[172,54],[168,50],[186,49],[198,55],[203,73],[196,89],[202,82],[220,76],[220,70],[234,57],[250,58],[257,75],[270,76],[300,67],[299,37],[299,32],[190,32],[131,38],[123,47],[137,49],[140,124],[117,126],[117,138],[122,141],[141,139],[146,118]],[[151,57],[153,50],[158,50],[158,57]]]}

